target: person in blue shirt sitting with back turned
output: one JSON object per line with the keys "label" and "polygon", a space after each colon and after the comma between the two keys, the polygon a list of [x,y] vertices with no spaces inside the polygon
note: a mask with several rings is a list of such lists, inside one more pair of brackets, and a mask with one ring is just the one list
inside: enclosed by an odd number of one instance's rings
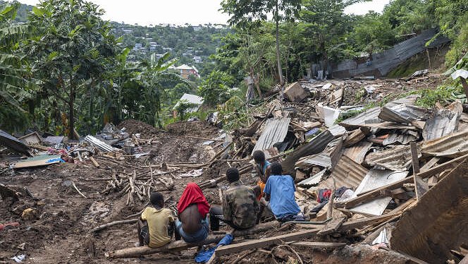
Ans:
{"label": "person in blue shirt sitting with back turned", "polygon": [[270,167],[271,175],[266,181],[264,203],[267,203],[266,206],[279,222],[304,221],[304,214],[294,198],[296,187],[293,177],[282,174],[283,167],[279,162],[273,162]]}

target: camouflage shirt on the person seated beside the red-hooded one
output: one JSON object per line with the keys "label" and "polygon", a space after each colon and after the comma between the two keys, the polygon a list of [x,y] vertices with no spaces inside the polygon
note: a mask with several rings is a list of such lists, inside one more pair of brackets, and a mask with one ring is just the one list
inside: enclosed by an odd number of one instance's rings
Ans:
{"label": "camouflage shirt on the person seated beside the red-hooded one", "polygon": [[240,228],[250,228],[257,222],[259,211],[259,202],[255,197],[254,190],[240,184],[240,181],[231,183],[224,192],[224,220],[232,221]]}

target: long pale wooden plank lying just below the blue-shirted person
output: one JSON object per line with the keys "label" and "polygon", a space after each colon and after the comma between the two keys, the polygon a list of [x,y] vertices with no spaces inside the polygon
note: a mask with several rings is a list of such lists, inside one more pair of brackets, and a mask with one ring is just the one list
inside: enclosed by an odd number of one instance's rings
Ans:
{"label": "long pale wooden plank lying just below the blue-shirted person", "polygon": [[283,242],[307,239],[311,236],[316,235],[319,231],[320,229],[305,230],[291,234],[283,234],[281,236],[272,236],[266,239],[256,239],[253,241],[242,242],[239,244],[231,244],[228,246],[223,246],[221,248],[216,248],[215,252],[216,256],[221,256],[224,254],[244,251],[250,248],[261,248],[264,246],[283,244]]}

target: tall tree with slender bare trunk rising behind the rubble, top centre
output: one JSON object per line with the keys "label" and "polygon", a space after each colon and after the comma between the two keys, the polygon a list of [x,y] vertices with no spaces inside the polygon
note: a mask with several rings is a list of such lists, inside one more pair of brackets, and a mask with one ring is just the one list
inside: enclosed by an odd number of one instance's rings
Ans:
{"label": "tall tree with slender bare trunk rising behind the rubble, top centre", "polygon": [[281,66],[279,25],[281,21],[293,20],[300,10],[300,0],[223,0],[221,6],[225,13],[231,17],[230,25],[238,25],[241,28],[252,25],[255,20],[267,20],[273,16],[276,35],[276,63],[278,67],[278,80],[283,85],[283,69]]}

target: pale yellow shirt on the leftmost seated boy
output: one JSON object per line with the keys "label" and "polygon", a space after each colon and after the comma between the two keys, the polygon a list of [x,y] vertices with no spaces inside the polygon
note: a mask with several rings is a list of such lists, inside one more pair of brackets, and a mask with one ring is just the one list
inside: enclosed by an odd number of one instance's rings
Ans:
{"label": "pale yellow shirt on the leftmost seated boy", "polygon": [[148,222],[149,247],[157,248],[171,242],[171,237],[167,234],[169,222],[174,222],[172,211],[167,208],[156,209],[147,207],[142,212],[142,220]]}

